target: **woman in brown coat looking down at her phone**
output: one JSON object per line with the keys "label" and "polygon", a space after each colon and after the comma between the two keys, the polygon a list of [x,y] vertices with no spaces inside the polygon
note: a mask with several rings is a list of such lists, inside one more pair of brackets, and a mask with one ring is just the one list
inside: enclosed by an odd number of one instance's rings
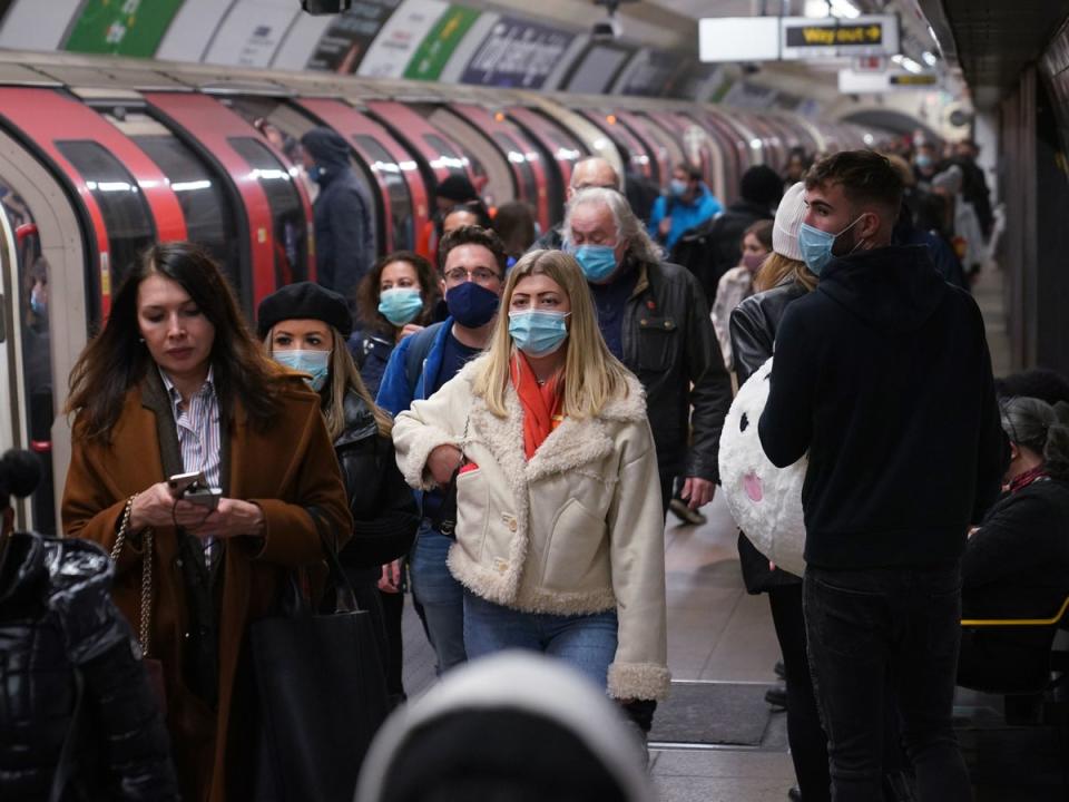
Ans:
{"label": "woman in brown coat looking down at her phone", "polygon": [[[264,356],[212,258],[166,243],[124,281],[71,373],[68,411],[63,531],[110,550],[128,516],[114,593],[135,629],[151,545],[148,652],[163,664],[183,796],[251,799],[248,626],[290,571],[321,563],[313,515],[339,545],[352,531],[320,399]],[[194,471],[222,491],[214,509],[167,482]]]}

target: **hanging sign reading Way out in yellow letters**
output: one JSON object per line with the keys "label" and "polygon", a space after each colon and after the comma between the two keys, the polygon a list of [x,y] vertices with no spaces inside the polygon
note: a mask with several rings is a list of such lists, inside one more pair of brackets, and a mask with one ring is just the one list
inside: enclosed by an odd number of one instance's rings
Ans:
{"label": "hanging sign reading Way out in yellow letters", "polygon": [[783,59],[890,56],[899,51],[899,18],[781,17],[779,42]]}

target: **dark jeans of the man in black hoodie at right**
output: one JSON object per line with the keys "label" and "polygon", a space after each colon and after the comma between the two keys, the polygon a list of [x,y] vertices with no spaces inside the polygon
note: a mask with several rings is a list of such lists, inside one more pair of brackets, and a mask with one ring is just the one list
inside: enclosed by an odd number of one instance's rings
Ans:
{"label": "dark jeans of the man in black hoodie at right", "polygon": [[951,725],[961,639],[959,568],[807,568],[803,593],[832,799],[880,799],[884,706],[896,704],[918,799],[971,800]]}

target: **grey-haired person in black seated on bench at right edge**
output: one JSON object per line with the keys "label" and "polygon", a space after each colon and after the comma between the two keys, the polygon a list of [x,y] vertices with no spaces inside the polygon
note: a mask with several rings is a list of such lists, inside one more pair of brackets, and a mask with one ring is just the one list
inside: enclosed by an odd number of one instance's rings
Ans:
{"label": "grey-haired person in black seated on bench at right edge", "polygon": [[[1002,402],[1010,441],[1002,497],[969,536],[962,618],[1049,618],[1069,596],[1069,403]],[[965,627],[958,684],[994,693],[1042,687],[1055,627]]]}

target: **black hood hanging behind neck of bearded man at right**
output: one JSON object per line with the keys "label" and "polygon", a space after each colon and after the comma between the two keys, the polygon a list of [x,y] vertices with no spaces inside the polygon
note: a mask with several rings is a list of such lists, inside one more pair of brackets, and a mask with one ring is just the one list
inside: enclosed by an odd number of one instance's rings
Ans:
{"label": "black hood hanging behind neck of bearded man at right", "polygon": [[920,329],[948,292],[923,245],[891,245],[833,260],[817,292],[870,325],[903,333]]}

